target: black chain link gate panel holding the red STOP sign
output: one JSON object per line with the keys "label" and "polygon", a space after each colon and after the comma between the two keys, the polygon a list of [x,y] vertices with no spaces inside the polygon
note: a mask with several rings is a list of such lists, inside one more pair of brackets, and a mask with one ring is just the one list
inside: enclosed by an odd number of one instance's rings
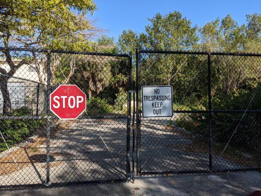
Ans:
{"label": "black chain link gate panel holding the red STOP sign", "polygon": [[[0,56],[0,188],[130,177],[130,55],[0,48]],[[60,84],[87,94],[77,120],[50,114]]]}

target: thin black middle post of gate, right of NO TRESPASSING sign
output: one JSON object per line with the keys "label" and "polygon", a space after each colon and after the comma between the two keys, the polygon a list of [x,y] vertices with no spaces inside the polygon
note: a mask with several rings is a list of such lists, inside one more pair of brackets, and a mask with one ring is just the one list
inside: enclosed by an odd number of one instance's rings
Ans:
{"label": "thin black middle post of gate, right of NO TRESPASSING sign", "polygon": [[209,169],[212,171],[212,106],[211,106],[211,53],[208,54],[208,102],[209,102]]}

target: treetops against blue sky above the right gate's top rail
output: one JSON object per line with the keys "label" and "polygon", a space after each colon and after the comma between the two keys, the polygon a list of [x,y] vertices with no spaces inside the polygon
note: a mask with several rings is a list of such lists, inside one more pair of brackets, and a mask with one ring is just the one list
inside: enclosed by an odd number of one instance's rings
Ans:
{"label": "treetops against blue sky above the right gate's top rail", "polygon": [[227,52],[261,52],[261,14],[246,16],[246,24],[238,25],[227,15],[202,27],[192,26],[191,21],[178,11],[162,16],[157,13],[148,19],[145,32],[124,30],[119,36],[121,51],[135,49],[200,50]]}

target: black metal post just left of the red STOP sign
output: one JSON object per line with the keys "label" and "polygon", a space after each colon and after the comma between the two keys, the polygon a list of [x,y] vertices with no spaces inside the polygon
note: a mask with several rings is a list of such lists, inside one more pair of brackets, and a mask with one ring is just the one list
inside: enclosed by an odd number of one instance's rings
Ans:
{"label": "black metal post just left of the red STOP sign", "polygon": [[[50,116],[50,90],[51,90],[51,56],[47,53],[47,116]],[[47,140],[46,140],[46,185],[50,182],[50,120],[47,118]]]}

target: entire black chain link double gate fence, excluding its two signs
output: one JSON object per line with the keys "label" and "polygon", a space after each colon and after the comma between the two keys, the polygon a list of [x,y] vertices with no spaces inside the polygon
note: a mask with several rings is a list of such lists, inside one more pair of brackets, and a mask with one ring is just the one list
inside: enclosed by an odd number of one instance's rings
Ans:
{"label": "entire black chain link double gate fence, excluding its two signs", "polygon": [[[260,56],[0,48],[0,188],[261,170]],[[87,96],[77,120],[50,113],[61,84]],[[173,87],[172,117],[142,118],[145,85]]]}

